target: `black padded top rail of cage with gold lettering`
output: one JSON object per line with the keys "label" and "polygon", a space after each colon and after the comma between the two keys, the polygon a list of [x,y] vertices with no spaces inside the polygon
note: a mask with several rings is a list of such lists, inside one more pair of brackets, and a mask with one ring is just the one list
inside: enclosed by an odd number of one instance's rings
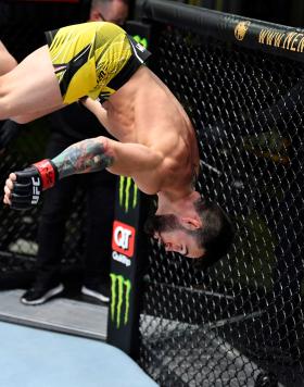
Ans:
{"label": "black padded top rail of cage with gold lettering", "polygon": [[[304,61],[304,29],[280,24],[257,21],[244,16],[199,9],[194,5],[174,1],[144,0],[140,8],[144,20],[167,23],[179,28],[223,41],[230,41],[242,47],[262,50],[267,53],[282,55],[296,61]],[[246,28],[242,39],[236,38],[236,28]],[[262,35],[261,35],[262,34]],[[262,42],[263,41],[263,42]]]}

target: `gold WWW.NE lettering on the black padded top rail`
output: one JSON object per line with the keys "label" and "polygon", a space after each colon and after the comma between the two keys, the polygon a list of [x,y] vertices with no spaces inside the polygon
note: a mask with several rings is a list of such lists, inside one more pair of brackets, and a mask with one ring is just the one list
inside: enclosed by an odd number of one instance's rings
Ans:
{"label": "gold WWW.NE lettering on the black padded top rail", "polygon": [[276,29],[264,28],[258,34],[258,42],[288,51],[304,51],[304,34],[301,33],[279,33]]}

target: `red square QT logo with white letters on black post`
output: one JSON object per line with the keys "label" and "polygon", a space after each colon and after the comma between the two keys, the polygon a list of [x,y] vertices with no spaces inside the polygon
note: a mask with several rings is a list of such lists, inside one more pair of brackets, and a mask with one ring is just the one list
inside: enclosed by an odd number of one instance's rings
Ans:
{"label": "red square QT logo with white letters on black post", "polygon": [[114,221],[112,249],[124,255],[132,257],[135,247],[135,228]]}

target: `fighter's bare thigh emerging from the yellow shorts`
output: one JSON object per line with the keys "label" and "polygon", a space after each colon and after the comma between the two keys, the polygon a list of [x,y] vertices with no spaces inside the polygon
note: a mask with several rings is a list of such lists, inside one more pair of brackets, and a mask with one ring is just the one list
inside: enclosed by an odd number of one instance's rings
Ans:
{"label": "fighter's bare thigh emerging from the yellow shorts", "polygon": [[0,77],[0,120],[18,116],[35,120],[63,105],[47,46]]}

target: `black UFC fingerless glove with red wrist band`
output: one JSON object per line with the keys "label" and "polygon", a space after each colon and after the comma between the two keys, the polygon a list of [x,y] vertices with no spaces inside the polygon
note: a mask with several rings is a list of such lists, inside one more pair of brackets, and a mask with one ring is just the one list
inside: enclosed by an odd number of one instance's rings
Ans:
{"label": "black UFC fingerless glove with red wrist band", "polygon": [[14,210],[26,210],[36,205],[41,191],[53,187],[58,180],[58,168],[48,159],[14,173],[16,180],[11,195],[11,208]]}

